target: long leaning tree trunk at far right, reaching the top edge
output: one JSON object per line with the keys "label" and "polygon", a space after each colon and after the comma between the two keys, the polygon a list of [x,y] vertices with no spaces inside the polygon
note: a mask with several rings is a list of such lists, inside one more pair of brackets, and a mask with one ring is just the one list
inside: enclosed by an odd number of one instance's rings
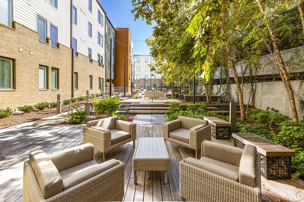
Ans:
{"label": "long leaning tree trunk at far right, reaching the top edge", "polygon": [[[260,0],[256,0],[256,2],[258,4],[258,7],[259,7],[261,13],[264,14],[264,9],[263,9],[263,7],[260,3]],[[276,35],[275,35],[275,32],[274,32],[273,28],[268,23],[267,23],[267,26],[268,26],[268,31],[269,31],[271,39],[272,39],[272,44],[274,46],[276,55],[278,57],[278,60],[279,60],[280,66],[281,66],[281,68],[278,67],[278,66],[277,67],[281,70],[281,74],[282,74],[281,78],[283,80],[283,83],[284,83],[284,86],[286,88],[287,95],[288,95],[288,98],[289,98],[289,102],[290,102],[292,119],[294,121],[298,121],[298,115],[297,115],[297,111],[296,111],[293,89],[292,89],[292,86],[291,86],[291,83],[290,83],[290,80],[289,80],[289,75],[287,73],[285,63],[284,63],[283,58],[281,56],[281,53],[279,51],[279,46],[278,46],[278,43],[277,43],[277,40],[276,40]],[[280,72],[280,70],[279,70],[279,72]]]}

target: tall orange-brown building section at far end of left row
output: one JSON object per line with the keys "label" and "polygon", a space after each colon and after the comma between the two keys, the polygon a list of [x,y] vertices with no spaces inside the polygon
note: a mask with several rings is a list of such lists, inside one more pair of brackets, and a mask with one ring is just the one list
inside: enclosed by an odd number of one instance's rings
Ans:
{"label": "tall orange-brown building section at far end of left row", "polygon": [[130,29],[116,28],[116,71],[112,83],[126,86],[126,92],[131,91],[132,47]]}

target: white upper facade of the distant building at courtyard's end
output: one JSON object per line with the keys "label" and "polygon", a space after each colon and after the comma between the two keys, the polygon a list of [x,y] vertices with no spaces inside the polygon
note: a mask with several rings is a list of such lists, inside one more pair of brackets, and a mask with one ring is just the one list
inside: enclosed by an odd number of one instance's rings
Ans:
{"label": "white upper facade of the distant building at courtyard's end", "polygon": [[[145,75],[148,75],[148,79],[150,78],[150,68],[148,66],[148,64],[153,64],[154,63],[154,60],[151,56],[149,55],[134,55],[133,56],[133,59],[137,59],[137,58],[140,58],[140,62],[138,63],[137,60],[134,61],[134,66],[135,66],[135,75],[140,75],[140,78],[143,79]],[[145,58],[148,58],[148,62],[146,63],[145,62]],[[148,67],[148,71],[146,72],[145,71],[145,67]],[[138,72],[137,71],[137,67],[140,67],[140,71]],[[153,79],[153,77],[151,77]],[[162,78],[162,75],[161,74],[156,74],[156,78],[157,79],[161,79]]]}

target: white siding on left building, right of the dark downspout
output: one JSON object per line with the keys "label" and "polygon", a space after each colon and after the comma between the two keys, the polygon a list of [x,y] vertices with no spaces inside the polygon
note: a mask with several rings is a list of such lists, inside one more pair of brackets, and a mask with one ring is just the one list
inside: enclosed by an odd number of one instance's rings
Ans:
{"label": "white siding on left building, right of the dark downspout", "polygon": [[[88,0],[73,1],[73,6],[77,8],[77,25],[73,24],[73,37],[77,39],[77,51],[88,56],[88,48],[91,48],[93,60],[97,61],[97,54],[105,60],[105,14],[96,1],[92,1],[92,13],[88,5]],[[103,26],[98,23],[98,10],[103,15]],[[92,38],[88,35],[88,22],[92,24]],[[98,32],[103,36],[103,47],[97,43]]]}

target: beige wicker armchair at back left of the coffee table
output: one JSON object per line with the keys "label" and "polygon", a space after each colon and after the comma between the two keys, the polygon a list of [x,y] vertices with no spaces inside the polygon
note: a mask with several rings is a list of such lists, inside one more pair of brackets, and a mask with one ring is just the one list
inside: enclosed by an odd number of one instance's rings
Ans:
{"label": "beige wicker armchair at back left of the coffee table", "polygon": [[95,148],[104,153],[133,140],[135,148],[136,124],[118,120],[118,117],[109,117],[88,121],[83,128],[83,142],[91,142]]}

